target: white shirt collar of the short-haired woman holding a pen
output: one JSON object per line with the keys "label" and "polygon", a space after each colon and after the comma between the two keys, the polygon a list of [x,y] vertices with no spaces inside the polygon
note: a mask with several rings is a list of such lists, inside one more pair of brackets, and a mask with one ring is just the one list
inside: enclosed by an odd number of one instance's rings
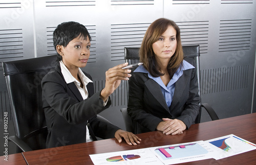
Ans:
{"label": "white shirt collar of the short-haired woman holding a pen", "polygon": [[[67,84],[71,83],[71,82],[77,82],[79,83],[79,81],[77,81],[69,72],[69,69],[66,67],[66,65],[62,62],[59,61],[60,63],[60,68],[61,68],[61,73],[66,81]],[[86,75],[83,74],[82,70],[80,68],[78,68],[78,76],[80,77],[82,82],[85,82],[86,84],[92,82],[91,79],[89,79]]]}

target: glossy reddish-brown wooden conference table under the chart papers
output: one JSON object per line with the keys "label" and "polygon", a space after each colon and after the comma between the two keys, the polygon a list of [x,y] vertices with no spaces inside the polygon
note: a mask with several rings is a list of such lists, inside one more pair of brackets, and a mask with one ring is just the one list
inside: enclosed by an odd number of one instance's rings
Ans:
{"label": "glossy reddish-brown wooden conference table under the chart papers", "polygon": [[[142,142],[137,146],[129,146],[125,142],[119,144],[115,138],[112,138],[65,147],[23,152],[22,154],[28,164],[93,164],[89,154],[181,144],[208,140],[229,134],[237,135],[256,144],[255,127],[256,113],[251,113],[195,124],[188,130],[183,131],[181,135],[163,135],[160,131],[138,134]],[[256,150],[253,150],[220,160],[206,159],[180,164],[256,164],[255,155]]]}

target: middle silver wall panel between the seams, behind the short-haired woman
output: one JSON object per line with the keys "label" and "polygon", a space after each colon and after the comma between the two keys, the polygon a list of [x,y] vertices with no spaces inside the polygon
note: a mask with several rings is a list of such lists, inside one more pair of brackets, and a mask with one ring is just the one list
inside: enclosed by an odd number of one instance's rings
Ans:
{"label": "middle silver wall panel between the seams, behind the short-haired woman", "polygon": [[[124,46],[140,46],[150,23],[162,17],[162,6],[162,1],[36,1],[37,57],[55,54],[52,32],[59,23],[82,23],[93,39],[89,62],[82,70],[91,74],[95,91],[99,91],[104,87],[105,71],[124,62]],[[101,113],[121,128],[120,108],[127,106],[126,86],[123,81],[111,96],[112,108]]]}

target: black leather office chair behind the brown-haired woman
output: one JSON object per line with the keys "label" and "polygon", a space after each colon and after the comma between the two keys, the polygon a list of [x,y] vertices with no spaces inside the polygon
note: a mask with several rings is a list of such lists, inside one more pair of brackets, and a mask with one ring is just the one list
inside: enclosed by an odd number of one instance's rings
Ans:
{"label": "black leather office chair behind the brown-haired woman", "polygon": [[[124,48],[125,62],[128,62],[129,64],[138,63],[139,62],[139,49],[140,48]],[[197,78],[198,78],[200,105],[201,105],[200,107],[201,108],[203,107],[208,112],[209,116],[211,117],[211,120],[213,120],[213,121],[214,120],[219,120],[219,117],[216,114],[216,112],[214,111],[214,109],[212,109],[207,103],[201,104],[199,45],[182,46],[182,50],[183,50],[183,54],[184,54],[184,59],[193,58],[194,61],[196,61],[196,66],[195,67],[197,69]],[[128,85],[127,85],[127,88],[129,88]],[[127,91],[129,91],[129,89],[127,89]],[[128,96],[127,96],[127,98],[128,98]],[[196,124],[200,123],[200,120],[201,120],[201,108],[200,108],[199,114],[198,114],[198,116],[195,120]],[[122,112],[122,115],[123,115],[126,131],[134,132],[132,119],[127,114],[127,109],[126,108],[121,108],[121,112]]]}

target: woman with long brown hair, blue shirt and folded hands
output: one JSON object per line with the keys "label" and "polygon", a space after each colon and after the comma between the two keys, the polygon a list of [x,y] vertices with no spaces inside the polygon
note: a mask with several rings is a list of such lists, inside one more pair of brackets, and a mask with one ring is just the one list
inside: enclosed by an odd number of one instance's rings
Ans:
{"label": "woman with long brown hair, blue shirt and folded hands", "polygon": [[183,133],[195,123],[200,98],[194,61],[183,59],[176,23],[155,20],[145,33],[139,56],[143,65],[129,81],[127,107],[135,133]]}

